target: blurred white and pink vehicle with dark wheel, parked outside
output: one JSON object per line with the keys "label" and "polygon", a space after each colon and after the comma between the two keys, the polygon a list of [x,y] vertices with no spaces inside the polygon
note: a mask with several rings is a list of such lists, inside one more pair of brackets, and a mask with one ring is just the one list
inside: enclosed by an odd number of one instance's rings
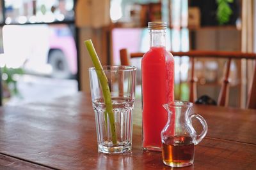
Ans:
{"label": "blurred white and pink vehicle with dark wheel, parked outside", "polygon": [[3,50],[4,64],[25,73],[54,78],[77,73],[76,43],[65,24],[4,25]]}

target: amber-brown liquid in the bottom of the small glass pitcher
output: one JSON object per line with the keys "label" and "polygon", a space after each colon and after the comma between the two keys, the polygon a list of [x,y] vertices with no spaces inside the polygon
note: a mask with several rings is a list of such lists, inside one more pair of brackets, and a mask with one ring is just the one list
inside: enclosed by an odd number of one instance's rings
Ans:
{"label": "amber-brown liquid in the bottom of the small glass pitcher", "polygon": [[162,143],[163,162],[168,166],[182,167],[193,164],[195,145],[190,136],[172,136]]}

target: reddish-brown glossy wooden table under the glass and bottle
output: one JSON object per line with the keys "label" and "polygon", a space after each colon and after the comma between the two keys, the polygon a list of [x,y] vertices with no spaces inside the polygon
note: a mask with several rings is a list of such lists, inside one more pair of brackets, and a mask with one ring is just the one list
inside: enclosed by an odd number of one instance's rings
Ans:
{"label": "reddish-brown glossy wooden table under the glass and bottle", "polygon": [[[136,101],[132,152],[97,152],[90,95],[52,103],[0,108],[0,169],[172,169],[160,152],[141,148],[141,110]],[[194,106],[209,125],[196,145],[193,166],[179,169],[256,169],[256,110]]]}

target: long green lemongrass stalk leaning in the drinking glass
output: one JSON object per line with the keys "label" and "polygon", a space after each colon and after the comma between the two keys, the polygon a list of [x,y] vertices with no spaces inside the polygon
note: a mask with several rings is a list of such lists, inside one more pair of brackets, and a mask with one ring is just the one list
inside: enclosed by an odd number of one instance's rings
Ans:
{"label": "long green lemongrass stalk leaning in the drinking glass", "polygon": [[[108,86],[108,78],[106,74],[103,71],[103,67],[100,64],[99,57],[95,51],[95,48],[93,46],[92,40],[88,39],[84,41],[84,44],[86,45],[86,48],[92,58],[93,65],[95,67],[95,71],[97,73],[97,76],[100,81],[100,85],[103,92],[103,98],[104,102],[106,104],[106,111],[105,114],[108,114],[109,117],[109,123],[110,123],[110,129],[111,129],[111,136],[112,136],[112,142],[113,144],[116,144],[116,128],[115,128],[115,118],[114,118],[114,112],[113,112],[113,105],[111,100],[111,94]],[[106,115],[105,115],[106,117]],[[107,123],[107,122],[106,122]]]}

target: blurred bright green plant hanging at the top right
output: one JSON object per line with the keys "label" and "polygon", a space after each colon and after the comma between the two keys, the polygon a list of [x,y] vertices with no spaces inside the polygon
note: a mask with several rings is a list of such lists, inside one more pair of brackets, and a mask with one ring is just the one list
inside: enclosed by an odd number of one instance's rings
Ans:
{"label": "blurred bright green plant hanging at the top right", "polygon": [[232,15],[232,10],[229,6],[230,3],[234,3],[234,0],[216,0],[218,4],[217,8],[217,20],[220,25],[228,23],[230,16]]}

